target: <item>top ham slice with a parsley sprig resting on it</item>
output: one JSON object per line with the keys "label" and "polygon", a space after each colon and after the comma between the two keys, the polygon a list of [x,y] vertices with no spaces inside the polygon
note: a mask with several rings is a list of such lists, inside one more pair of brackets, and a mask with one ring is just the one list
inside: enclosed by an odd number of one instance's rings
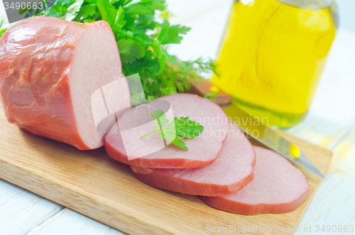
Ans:
{"label": "top ham slice with a parsley sprig resting on it", "polygon": [[[146,145],[146,138],[140,139],[140,136],[155,129],[155,123],[149,115],[150,123],[126,130],[124,138],[120,133],[121,130],[115,133],[117,128],[121,129],[122,124],[131,124],[136,116],[141,116],[138,111],[144,106],[137,106],[121,116],[118,125],[113,126],[105,137],[105,149],[108,155],[122,163],[141,168],[198,168],[216,160],[229,132],[229,121],[221,107],[194,94],[172,94],[155,99],[154,102],[161,101],[170,103],[173,116],[188,116],[204,126],[204,131],[197,138],[184,138],[188,151],[170,143],[165,148],[140,158],[132,158],[127,154],[123,139],[128,139],[130,148],[138,149],[140,153],[148,153],[155,145],[155,143]],[[155,133],[156,141],[159,141],[160,133]]]}

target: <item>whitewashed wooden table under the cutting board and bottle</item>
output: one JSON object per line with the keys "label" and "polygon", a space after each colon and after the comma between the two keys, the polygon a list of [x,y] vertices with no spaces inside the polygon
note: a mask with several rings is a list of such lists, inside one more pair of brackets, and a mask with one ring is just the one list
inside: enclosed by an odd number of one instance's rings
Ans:
{"label": "whitewashed wooden table under the cutting board and bottle", "polygon": [[[182,45],[173,46],[170,52],[184,60],[215,58],[231,0],[168,0],[168,4],[175,15],[172,23],[192,27]],[[288,130],[334,152],[327,175],[300,222],[301,228],[355,226],[355,1],[339,0],[338,4],[341,28],[315,101],[305,121]],[[4,16],[1,3],[0,16]],[[0,180],[0,234],[123,233]]]}

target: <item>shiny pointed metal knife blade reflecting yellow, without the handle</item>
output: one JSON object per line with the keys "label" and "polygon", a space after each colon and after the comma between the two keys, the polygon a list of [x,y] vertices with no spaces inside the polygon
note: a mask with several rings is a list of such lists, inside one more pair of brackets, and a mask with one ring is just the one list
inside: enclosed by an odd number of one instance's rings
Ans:
{"label": "shiny pointed metal knife blade reflecting yellow, without the handle", "polygon": [[257,141],[263,143],[273,151],[280,153],[288,160],[293,161],[297,165],[310,170],[312,173],[324,178],[324,175],[317,169],[317,167],[307,158],[305,153],[302,153],[297,146],[286,140],[278,133],[273,131],[268,126],[263,126],[258,119],[253,118],[246,112],[239,109],[235,104],[222,105],[222,109],[231,121],[238,126],[241,131],[246,133]]}

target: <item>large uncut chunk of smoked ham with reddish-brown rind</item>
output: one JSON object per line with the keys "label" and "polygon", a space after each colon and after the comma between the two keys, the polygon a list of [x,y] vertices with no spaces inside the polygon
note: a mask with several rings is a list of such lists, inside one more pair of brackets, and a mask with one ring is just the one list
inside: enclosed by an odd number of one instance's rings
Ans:
{"label": "large uncut chunk of smoked ham with reddish-brown rind", "polygon": [[105,133],[94,123],[92,94],[117,81],[117,104],[130,106],[116,40],[104,21],[25,19],[1,37],[0,60],[6,118],[38,136],[82,150],[99,148]]}

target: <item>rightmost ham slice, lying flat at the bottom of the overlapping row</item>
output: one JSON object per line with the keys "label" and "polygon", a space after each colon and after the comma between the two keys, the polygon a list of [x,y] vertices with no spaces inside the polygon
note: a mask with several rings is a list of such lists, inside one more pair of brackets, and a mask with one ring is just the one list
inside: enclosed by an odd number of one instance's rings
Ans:
{"label": "rightmost ham slice, lying flat at the bottom of the overlapping row", "polygon": [[300,170],[271,150],[254,147],[254,180],[231,195],[201,197],[211,207],[237,214],[292,212],[310,195],[310,185]]}

